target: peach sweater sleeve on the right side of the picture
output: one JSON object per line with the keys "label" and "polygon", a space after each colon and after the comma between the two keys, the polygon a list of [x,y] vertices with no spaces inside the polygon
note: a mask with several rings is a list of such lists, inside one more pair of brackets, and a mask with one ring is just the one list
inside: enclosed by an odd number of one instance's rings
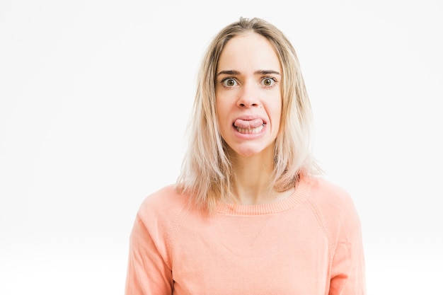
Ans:
{"label": "peach sweater sleeve on the right side of the picture", "polygon": [[366,294],[360,221],[352,202],[347,205],[333,253],[329,295]]}

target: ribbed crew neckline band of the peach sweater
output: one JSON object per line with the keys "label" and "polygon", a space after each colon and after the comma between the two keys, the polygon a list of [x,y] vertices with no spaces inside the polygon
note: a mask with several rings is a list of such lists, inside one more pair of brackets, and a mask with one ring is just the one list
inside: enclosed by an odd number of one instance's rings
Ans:
{"label": "ribbed crew neckline band of the peach sweater", "polygon": [[257,205],[228,204],[219,202],[217,212],[228,215],[265,215],[287,211],[300,204],[311,189],[309,176],[301,175],[296,190],[289,197],[277,202]]}

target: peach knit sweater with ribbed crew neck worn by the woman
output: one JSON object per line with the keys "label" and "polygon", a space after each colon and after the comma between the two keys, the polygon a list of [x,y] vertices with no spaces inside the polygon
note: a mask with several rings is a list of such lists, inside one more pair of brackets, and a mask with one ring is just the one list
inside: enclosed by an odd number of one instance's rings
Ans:
{"label": "peach knit sweater with ribbed crew neck worn by the woman", "polygon": [[364,254],[350,196],[302,176],[269,204],[190,207],[173,185],[144,199],[130,235],[126,295],[363,295]]}

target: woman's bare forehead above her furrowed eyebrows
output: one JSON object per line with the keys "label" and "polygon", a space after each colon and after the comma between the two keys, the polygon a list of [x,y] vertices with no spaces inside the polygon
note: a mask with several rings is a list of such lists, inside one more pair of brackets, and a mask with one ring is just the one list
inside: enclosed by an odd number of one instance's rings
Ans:
{"label": "woman's bare forehead above her furrowed eyebrows", "polygon": [[271,42],[258,33],[246,33],[226,42],[217,69],[273,69],[280,71],[280,60]]}

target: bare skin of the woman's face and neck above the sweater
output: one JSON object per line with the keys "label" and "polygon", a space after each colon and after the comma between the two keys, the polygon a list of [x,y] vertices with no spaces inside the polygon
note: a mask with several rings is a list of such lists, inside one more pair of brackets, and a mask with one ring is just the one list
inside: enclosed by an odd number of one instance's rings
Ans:
{"label": "bare skin of the woman's face and neck above the sweater", "polygon": [[232,38],[220,55],[217,121],[236,171],[237,204],[275,202],[293,191],[276,192],[269,185],[282,112],[281,73],[274,48],[257,33]]}

